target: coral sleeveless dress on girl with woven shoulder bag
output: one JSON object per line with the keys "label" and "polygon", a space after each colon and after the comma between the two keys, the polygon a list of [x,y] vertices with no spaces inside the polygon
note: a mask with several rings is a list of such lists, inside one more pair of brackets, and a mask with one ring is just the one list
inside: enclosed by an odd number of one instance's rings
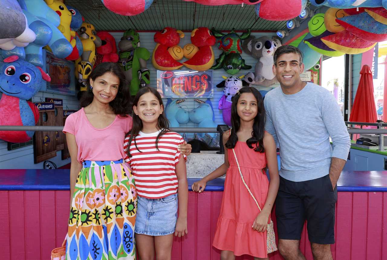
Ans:
{"label": "coral sleeveless dress on girl with woven shoulder bag", "polygon": [[[247,186],[261,209],[269,190],[269,180],[262,170],[266,166],[264,152],[255,152],[246,142],[238,141],[235,154]],[[266,231],[253,231],[259,209],[240,177],[232,149],[227,149],[229,168],[224,182],[221,212],[216,224],[212,246],[233,251],[234,255],[267,257]],[[269,219],[270,221],[270,219]]]}

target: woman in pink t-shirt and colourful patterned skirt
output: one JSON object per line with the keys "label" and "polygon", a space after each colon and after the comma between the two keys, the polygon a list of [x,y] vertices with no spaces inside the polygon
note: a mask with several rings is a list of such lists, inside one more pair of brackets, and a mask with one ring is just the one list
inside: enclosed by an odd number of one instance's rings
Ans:
{"label": "woman in pink t-shirt and colourful patterned skirt", "polygon": [[[116,63],[100,63],[87,80],[82,107],[68,116],[70,217],[67,259],[135,259],[137,193],[122,144],[132,128],[130,93]],[[190,145],[182,145],[189,154]]]}

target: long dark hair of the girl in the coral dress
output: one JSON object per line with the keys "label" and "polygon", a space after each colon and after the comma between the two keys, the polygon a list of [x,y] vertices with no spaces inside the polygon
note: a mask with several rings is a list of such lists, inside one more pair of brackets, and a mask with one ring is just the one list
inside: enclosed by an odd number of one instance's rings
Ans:
{"label": "long dark hair of the girl in the coral dress", "polygon": [[228,149],[232,149],[235,147],[236,142],[238,141],[238,135],[236,133],[238,132],[241,121],[240,117],[238,115],[238,111],[236,110],[236,106],[238,105],[239,98],[241,94],[243,93],[252,93],[257,99],[257,107],[258,107],[258,113],[257,116],[254,118],[253,123],[253,132],[251,133],[252,137],[246,141],[248,147],[253,148],[253,144],[256,144],[256,147],[254,148],[254,151],[256,152],[264,152],[264,133],[265,133],[265,121],[266,121],[266,113],[265,113],[265,107],[264,107],[264,100],[261,96],[261,93],[254,87],[242,87],[238,93],[233,97],[233,103],[231,104],[231,123],[232,123],[232,129],[231,129],[231,135],[226,142],[226,147]]}

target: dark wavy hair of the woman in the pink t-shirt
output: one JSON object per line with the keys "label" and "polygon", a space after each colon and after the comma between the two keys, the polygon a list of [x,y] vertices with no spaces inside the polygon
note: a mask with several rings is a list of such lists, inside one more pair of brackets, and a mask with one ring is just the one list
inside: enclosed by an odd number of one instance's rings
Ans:
{"label": "dark wavy hair of the woman in the pink t-shirt", "polygon": [[110,72],[118,77],[120,80],[120,86],[118,86],[117,96],[113,101],[109,103],[116,115],[126,117],[130,115],[132,107],[130,106],[130,92],[128,82],[125,80],[125,74],[123,74],[120,65],[113,62],[102,62],[99,63],[91,72],[87,78],[87,91],[82,95],[79,103],[82,108],[91,104],[94,99],[94,94],[90,89],[90,79],[95,81],[97,77],[102,76],[106,72]]}

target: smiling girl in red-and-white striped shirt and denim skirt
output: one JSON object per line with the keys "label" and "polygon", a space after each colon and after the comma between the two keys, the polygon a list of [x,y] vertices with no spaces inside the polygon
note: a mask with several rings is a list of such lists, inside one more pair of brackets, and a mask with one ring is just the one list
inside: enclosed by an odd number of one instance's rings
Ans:
{"label": "smiling girl in red-and-white striped shirt and denim skirt", "polygon": [[[133,127],[127,134],[125,161],[132,168],[137,212],[135,239],[141,260],[171,259],[173,233],[187,234],[188,184],[183,138],[168,129],[159,92],[144,87],[133,102]],[[177,210],[179,208],[179,216]]]}

